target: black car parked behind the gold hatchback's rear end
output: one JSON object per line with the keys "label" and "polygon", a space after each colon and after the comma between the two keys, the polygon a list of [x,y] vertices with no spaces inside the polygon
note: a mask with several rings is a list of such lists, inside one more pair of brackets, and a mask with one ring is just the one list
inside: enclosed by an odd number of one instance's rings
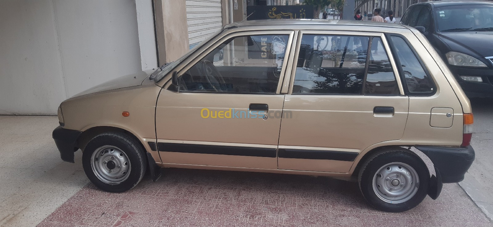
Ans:
{"label": "black car parked behind the gold hatchback's rear end", "polygon": [[424,27],[468,97],[493,97],[493,1],[421,2],[406,10],[401,24]]}

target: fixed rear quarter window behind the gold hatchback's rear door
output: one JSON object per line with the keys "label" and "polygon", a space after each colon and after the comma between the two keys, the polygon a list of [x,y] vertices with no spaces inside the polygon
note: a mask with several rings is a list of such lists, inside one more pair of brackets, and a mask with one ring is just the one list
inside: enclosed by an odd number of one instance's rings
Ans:
{"label": "fixed rear quarter window behind the gold hatchback's rear door", "polygon": [[408,91],[411,94],[432,93],[433,84],[406,41],[398,36],[391,36],[391,39],[404,71]]}

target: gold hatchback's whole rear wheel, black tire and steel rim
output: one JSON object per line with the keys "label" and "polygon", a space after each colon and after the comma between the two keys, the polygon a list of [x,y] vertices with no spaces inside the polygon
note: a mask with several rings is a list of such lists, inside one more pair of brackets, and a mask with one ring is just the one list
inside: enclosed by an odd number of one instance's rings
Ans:
{"label": "gold hatchback's whole rear wheel, black tire and steel rim", "polygon": [[414,208],[427,195],[429,171],[414,152],[395,148],[379,152],[359,172],[363,197],[375,208],[402,212]]}

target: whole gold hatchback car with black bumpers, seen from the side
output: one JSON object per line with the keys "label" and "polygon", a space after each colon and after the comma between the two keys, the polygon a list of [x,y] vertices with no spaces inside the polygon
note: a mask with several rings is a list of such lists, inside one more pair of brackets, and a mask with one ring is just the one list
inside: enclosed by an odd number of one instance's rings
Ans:
{"label": "whole gold hatchback car with black bumpers, seen from the side", "polygon": [[397,24],[230,24],[155,72],[64,101],[58,117],[62,159],[81,149],[108,192],[162,167],[306,174],[357,181],[371,205],[401,212],[474,160],[469,100],[426,38]]}

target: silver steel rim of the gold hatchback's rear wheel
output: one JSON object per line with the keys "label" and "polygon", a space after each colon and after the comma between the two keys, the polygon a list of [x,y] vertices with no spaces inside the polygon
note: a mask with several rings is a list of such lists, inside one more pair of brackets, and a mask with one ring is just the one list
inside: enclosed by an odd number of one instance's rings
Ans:
{"label": "silver steel rim of the gold hatchback's rear wheel", "polygon": [[381,167],[373,176],[373,191],[379,199],[397,204],[413,198],[420,187],[418,172],[411,166],[393,162]]}

